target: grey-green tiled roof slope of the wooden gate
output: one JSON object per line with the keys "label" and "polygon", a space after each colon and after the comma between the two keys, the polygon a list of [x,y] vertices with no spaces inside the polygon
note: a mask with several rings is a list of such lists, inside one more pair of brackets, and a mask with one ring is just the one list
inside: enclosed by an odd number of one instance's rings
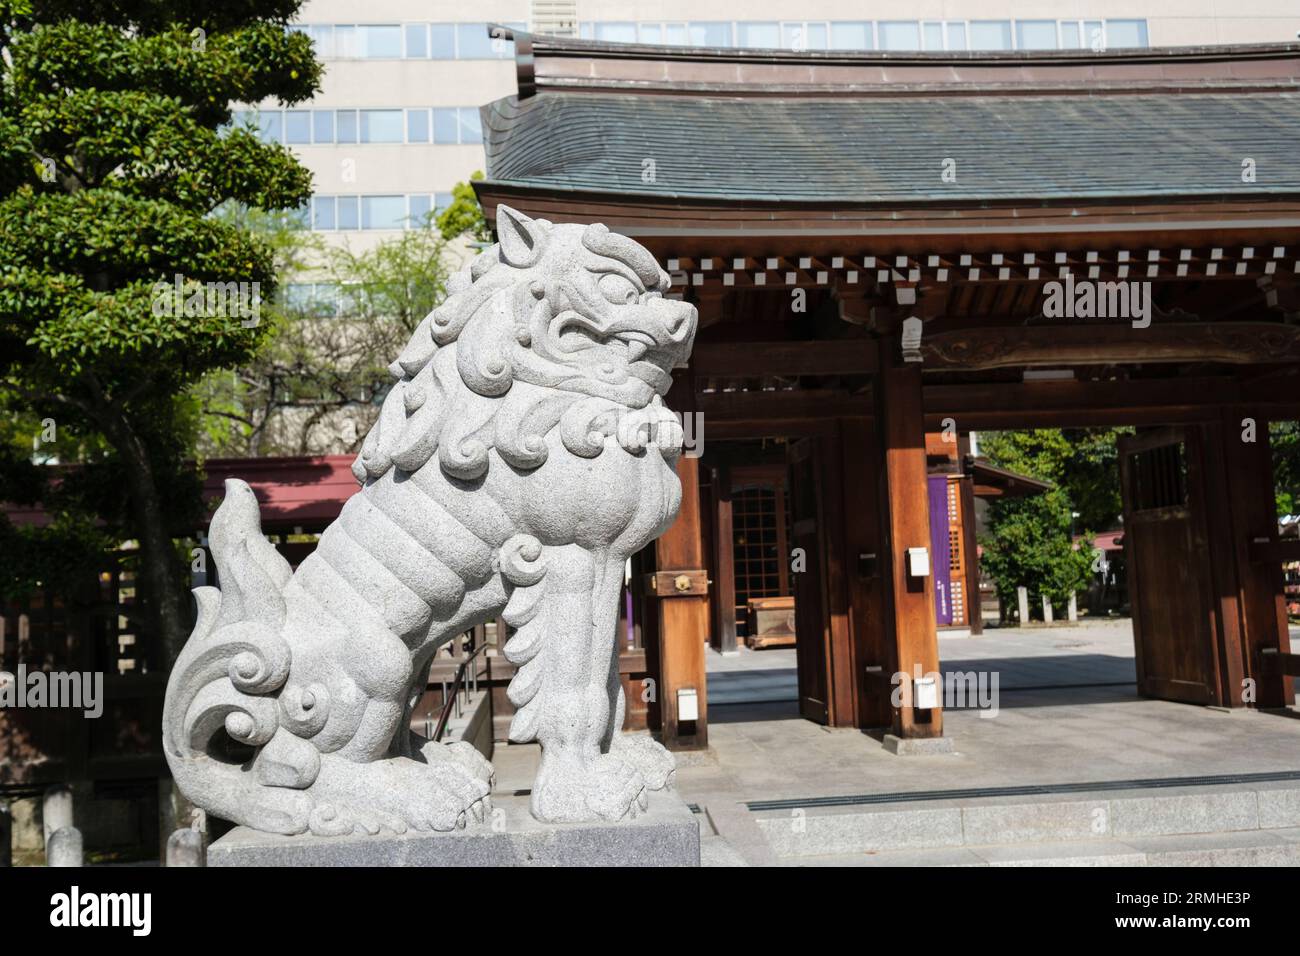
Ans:
{"label": "grey-green tiled roof slope of the wooden gate", "polygon": [[901,206],[1300,195],[1300,91],[546,92],[482,117],[488,178],[543,190]]}

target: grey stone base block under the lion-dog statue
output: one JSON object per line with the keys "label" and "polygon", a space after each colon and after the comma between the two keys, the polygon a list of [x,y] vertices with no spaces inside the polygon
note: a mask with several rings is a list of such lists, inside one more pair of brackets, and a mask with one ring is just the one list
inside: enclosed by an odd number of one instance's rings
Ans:
{"label": "grey stone base block under the lion-dog statue", "polygon": [[528,796],[493,795],[482,823],[446,834],[276,836],[237,827],[208,866],[699,866],[699,821],[676,792],[620,823],[538,823]]}

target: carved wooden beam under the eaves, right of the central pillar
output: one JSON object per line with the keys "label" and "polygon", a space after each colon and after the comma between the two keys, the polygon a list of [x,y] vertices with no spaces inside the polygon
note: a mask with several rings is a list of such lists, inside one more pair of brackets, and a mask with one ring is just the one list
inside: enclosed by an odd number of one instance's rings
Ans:
{"label": "carved wooden beam under the eaves, right of the central pillar", "polygon": [[970,328],[927,336],[926,368],[1067,368],[1121,363],[1300,362],[1300,326],[1280,323],[1167,323]]}

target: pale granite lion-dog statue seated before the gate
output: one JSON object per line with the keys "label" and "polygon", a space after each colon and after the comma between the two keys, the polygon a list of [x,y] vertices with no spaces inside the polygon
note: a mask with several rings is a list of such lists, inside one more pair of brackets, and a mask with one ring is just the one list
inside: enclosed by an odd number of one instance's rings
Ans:
{"label": "pale granite lion-dog statue seated before the gate", "polygon": [[410,723],[438,648],[498,615],[510,739],[541,744],[536,818],[634,817],[670,783],[668,752],[621,730],[616,631],[627,558],[681,502],[662,397],[696,310],[603,225],[502,206],[497,229],[390,365],[360,489],[295,571],[226,483],[220,588],[194,592],[164,706],[176,783],[217,817],[317,835],[481,821],[491,765]]}

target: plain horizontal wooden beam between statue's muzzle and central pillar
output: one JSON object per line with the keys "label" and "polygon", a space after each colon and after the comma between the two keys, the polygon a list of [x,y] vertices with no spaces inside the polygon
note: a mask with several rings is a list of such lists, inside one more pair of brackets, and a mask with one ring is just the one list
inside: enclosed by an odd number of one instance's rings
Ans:
{"label": "plain horizontal wooden beam between statue's muzzle and central pillar", "polygon": [[690,367],[697,378],[757,378],[764,375],[866,375],[878,365],[870,338],[816,342],[706,342]]}

